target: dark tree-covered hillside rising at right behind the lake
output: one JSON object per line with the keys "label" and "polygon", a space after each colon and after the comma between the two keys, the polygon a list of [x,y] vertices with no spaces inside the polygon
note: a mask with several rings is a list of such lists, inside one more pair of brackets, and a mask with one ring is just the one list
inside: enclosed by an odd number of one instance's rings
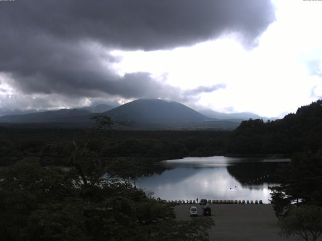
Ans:
{"label": "dark tree-covered hillside rising at right behind the lake", "polygon": [[296,113],[264,123],[244,121],[227,142],[227,153],[284,154],[316,152],[322,147],[322,100],[301,106]]}

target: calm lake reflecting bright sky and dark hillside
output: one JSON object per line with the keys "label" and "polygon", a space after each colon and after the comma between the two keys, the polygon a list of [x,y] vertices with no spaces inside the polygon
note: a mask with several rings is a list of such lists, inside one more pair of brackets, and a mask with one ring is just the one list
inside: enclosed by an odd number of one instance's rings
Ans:
{"label": "calm lake reflecting bright sky and dark hillside", "polygon": [[263,200],[270,203],[269,186],[278,163],[289,159],[203,157],[167,160],[168,170],[137,180],[136,185],[166,200]]}

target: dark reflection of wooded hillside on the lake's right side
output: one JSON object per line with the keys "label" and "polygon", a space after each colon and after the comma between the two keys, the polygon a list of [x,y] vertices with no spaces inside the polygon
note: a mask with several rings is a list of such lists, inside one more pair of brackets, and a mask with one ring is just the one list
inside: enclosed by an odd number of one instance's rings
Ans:
{"label": "dark reflection of wooded hillside on the lake's right side", "polygon": [[228,166],[228,173],[233,176],[241,185],[275,183],[274,179],[278,163],[236,163]]}

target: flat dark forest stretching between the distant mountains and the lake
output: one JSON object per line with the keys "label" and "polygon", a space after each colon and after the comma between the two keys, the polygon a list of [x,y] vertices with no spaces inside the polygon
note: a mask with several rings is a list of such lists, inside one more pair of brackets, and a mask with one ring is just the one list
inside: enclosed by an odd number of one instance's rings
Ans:
{"label": "flat dark forest stretching between the distant mountains and the lake", "polygon": [[[44,165],[64,165],[65,143],[83,143],[91,130],[0,128],[0,165],[25,157],[40,157]],[[225,131],[112,131],[101,130],[89,144],[89,157],[135,157],[147,161],[211,156],[224,153]],[[31,138],[32,137],[32,138]]]}

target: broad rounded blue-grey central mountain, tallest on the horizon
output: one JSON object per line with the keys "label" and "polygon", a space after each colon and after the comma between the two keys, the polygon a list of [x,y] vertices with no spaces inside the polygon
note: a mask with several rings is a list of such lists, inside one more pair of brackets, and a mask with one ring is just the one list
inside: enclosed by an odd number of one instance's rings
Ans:
{"label": "broad rounded blue-grey central mountain, tallest on the horizon", "polygon": [[217,120],[176,101],[137,99],[105,114],[133,122],[138,129],[235,129],[240,122]]}

